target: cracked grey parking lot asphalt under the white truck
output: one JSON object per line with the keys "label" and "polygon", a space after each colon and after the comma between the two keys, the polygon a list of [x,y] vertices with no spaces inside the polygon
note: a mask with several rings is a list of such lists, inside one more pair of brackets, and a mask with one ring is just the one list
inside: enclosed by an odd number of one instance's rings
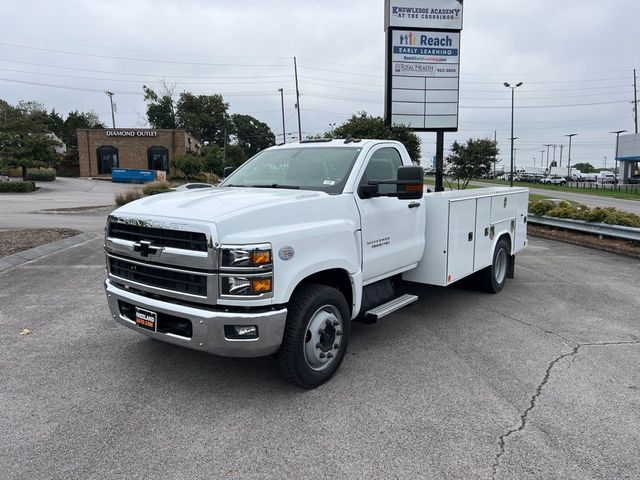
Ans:
{"label": "cracked grey parking lot asphalt under the white truck", "polygon": [[0,472],[639,478],[639,267],[532,238],[500,294],[416,287],[303,391],[114,323],[94,238],[0,273]]}

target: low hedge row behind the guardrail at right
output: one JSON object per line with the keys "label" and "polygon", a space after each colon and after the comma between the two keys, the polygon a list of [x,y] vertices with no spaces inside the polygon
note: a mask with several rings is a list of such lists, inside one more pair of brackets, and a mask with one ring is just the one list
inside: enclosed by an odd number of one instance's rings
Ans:
{"label": "low hedge row behind the guardrail at right", "polygon": [[555,203],[547,200],[539,200],[529,203],[529,213],[540,216],[546,215],[547,217],[569,218],[571,220],[583,220],[585,222],[640,228],[640,216],[635,213],[622,212],[613,207],[589,208],[585,205],[570,202]]}

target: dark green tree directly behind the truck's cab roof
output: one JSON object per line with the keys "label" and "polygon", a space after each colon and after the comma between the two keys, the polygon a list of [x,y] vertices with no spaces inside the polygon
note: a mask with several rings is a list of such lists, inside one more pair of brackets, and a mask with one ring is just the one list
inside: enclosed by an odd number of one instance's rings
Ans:
{"label": "dark green tree directly behind the truck's cab roof", "polygon": [[404,144],[414,163],[420,159],[420,137],[408,127],[389,127],[382,117],[372,117],[367,112],[352,115],[345,123],[336,127],[332,132],[326,132],[325,137],[346,138],[376,138],[380,140],[397,140]]}

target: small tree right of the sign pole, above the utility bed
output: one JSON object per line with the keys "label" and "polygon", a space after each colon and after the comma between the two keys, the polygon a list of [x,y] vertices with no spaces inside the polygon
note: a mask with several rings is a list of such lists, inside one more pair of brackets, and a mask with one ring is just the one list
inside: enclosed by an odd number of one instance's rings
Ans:
{"label": "small tree right of the sign pole, above the utility bed", "polygon": [[453,142],[451,154],[447,157],[450,176],[457,180],[459,189],[467,188],[472,178],[491,171],[498,153],[497,143],[488,138],[470,138],[466,144]]}

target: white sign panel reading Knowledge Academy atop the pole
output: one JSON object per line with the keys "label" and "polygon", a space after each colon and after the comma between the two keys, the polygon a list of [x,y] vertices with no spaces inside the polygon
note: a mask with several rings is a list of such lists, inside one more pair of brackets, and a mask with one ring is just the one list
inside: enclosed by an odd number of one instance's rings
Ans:
{"label": "white sign panel reading Knowledge Academy atop the pole", "polygon": [[389,28],[462,30],[462,0],[386,0]]}

